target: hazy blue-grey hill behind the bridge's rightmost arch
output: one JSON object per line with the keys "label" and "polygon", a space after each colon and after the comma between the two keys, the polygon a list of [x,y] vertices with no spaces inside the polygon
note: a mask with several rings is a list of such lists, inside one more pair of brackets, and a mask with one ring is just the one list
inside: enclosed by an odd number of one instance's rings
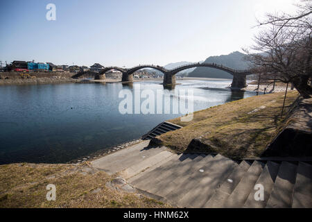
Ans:
{"label": "hazy blue-grey hill behind the bridge's rightmost arch", "polygon": [[[243,60],[244,56],[245,54],[240,53],[239,51],[234,51],[229,55],[210,56],[204,63],[216,63],[232,69],[248,69],[248,62]],[[233,78],[231,74],[228,74],[225,71],[207,67],[198,67],[194,69],[189,73],[189,77]]]}

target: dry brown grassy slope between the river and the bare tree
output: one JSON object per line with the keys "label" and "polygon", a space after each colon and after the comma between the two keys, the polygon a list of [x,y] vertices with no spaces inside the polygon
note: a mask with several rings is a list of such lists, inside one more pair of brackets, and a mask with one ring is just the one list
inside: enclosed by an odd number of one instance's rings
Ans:
{"label": "dry brown grassy slope between the river and the bare tree", "polygon": [[[296,91],[288,93],[286,112],[297,95]],[[187,147],[191,140],[200,138],[210,147],[209,152],[201,150],[203,153],[220,153],[234,158],[259,157],[285,117],[286,112],[283,118],[280,116],[283,101],[284,92],[280,92],[252,96],[194,112],[193,121],[171,120],[184,128],[157,138],[179,153],[189,151]],[[260,109],[252,112],[257,108]]]}

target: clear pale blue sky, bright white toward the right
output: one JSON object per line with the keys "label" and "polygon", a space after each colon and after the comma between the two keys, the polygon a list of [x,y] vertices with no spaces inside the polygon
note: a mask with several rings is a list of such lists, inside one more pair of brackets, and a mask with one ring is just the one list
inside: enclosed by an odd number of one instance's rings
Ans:
{"label": "clear pale blue sky, bright white toward the right", "polygon": [[[46,20],[46,5],[56,21]],[[293,0],[1,0],[0,60],[132,67],[205,60],[252,44],[255,17]]]}

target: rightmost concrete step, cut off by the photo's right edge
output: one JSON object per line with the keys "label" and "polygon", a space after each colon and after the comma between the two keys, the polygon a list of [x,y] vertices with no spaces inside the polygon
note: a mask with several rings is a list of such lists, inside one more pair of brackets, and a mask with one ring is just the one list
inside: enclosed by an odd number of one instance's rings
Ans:
{"label": "rightmost concrete step, cut off by the photo's right edge", "polygon": [[299,162],[293,208],[312,208],[312,165]]}

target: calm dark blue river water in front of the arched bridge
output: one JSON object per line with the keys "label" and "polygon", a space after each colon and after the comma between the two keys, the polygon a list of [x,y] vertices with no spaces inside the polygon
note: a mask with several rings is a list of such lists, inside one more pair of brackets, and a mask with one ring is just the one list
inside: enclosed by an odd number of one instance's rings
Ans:
{"label": "calm dark blue river water in front of the arched bridge", "polygon": [[[225,89],[231,80],[177,81],[175,89],[160,82],[5,85],[0,86],[0,164],[64,163],[138,139],[157,124],[182,114],[121,114],[121,89],[161,90],[173,101],[180,89],[192,89],[194,111],[254,96]],[[158,90],[158,91],[159,91]],[[134,94],[134,93],[133,93]],[[145,99],[141,99],[144,101]],[[135,100],[133,100],[135,103]],[[155,110],[157,109],[155,104]]]}

